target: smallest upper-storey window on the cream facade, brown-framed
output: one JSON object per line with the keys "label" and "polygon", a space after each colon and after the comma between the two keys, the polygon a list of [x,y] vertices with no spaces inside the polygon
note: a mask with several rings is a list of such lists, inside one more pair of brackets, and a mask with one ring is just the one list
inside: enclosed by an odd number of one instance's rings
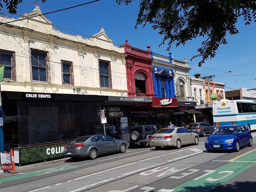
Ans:
{"label": "smallest upper-storey window on the cream facade, brown-framed", "polygon": [[68,84],[68,85],[74,85],[72,62],[61,61],[61,63],[62,63],[62,83]]}

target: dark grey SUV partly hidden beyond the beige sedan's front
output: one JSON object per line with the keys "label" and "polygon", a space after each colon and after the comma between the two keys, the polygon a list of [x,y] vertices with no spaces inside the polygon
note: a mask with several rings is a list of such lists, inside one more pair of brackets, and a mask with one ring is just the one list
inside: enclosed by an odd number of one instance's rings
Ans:
{"label": "dark grey SUV partly hidden beyond the beige sedan's front", "polygon": [[214,132],[214,127],[206,122],[191,123],[188,125],[188,130],[197,133],[198,135],[206,136],[207,133]]}

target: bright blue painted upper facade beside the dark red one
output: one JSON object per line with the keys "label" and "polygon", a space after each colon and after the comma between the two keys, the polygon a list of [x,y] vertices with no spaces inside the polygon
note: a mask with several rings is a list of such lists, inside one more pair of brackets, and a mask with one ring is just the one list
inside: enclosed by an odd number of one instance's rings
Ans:
{"label": "bright blue painted upper facade beside the dark red one", "polygon": [[[155,54],[154,55],[159,55]],[[153,61],[158,61],[160,63],[172,64],[172,53],[169,53],[169,62],[166,60],[156,59],[151,55]],[[159,55],[161,57],[166,57],[163,55]],[[168,57],[166,57],[168,58]],[[171,68],[163,68],[156,65],[152,65],[153,68],[153,85],[154,85],[154,92],[155,97],[169,97],[175,98],[175,87],[174,87],[174,71]],[[161,86],[162,84],[162,86]],[[165,89],[163,89],[163,85]]]}

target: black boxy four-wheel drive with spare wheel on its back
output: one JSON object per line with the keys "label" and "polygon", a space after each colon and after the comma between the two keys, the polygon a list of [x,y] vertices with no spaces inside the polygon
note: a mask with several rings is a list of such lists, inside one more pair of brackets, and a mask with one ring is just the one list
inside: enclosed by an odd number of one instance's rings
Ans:
{"label": "black boxy four-wheel drive with spare wheel on its back", "polygon": [[153,147],[151,144],[151,135],[157,131],[156,125],[137,125],[129,128],[129,145],[144,144]]}

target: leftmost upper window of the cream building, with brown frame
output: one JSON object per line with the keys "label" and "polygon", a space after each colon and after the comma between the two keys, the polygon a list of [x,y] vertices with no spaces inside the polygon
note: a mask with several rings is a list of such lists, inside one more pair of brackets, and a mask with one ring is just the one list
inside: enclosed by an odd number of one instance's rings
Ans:
{"label": "leftmost upper window of the cream building, with brown frame", "polygon": [[16,80],[14,52],[0,50],[0,65],[4,65],[4,79]]}

